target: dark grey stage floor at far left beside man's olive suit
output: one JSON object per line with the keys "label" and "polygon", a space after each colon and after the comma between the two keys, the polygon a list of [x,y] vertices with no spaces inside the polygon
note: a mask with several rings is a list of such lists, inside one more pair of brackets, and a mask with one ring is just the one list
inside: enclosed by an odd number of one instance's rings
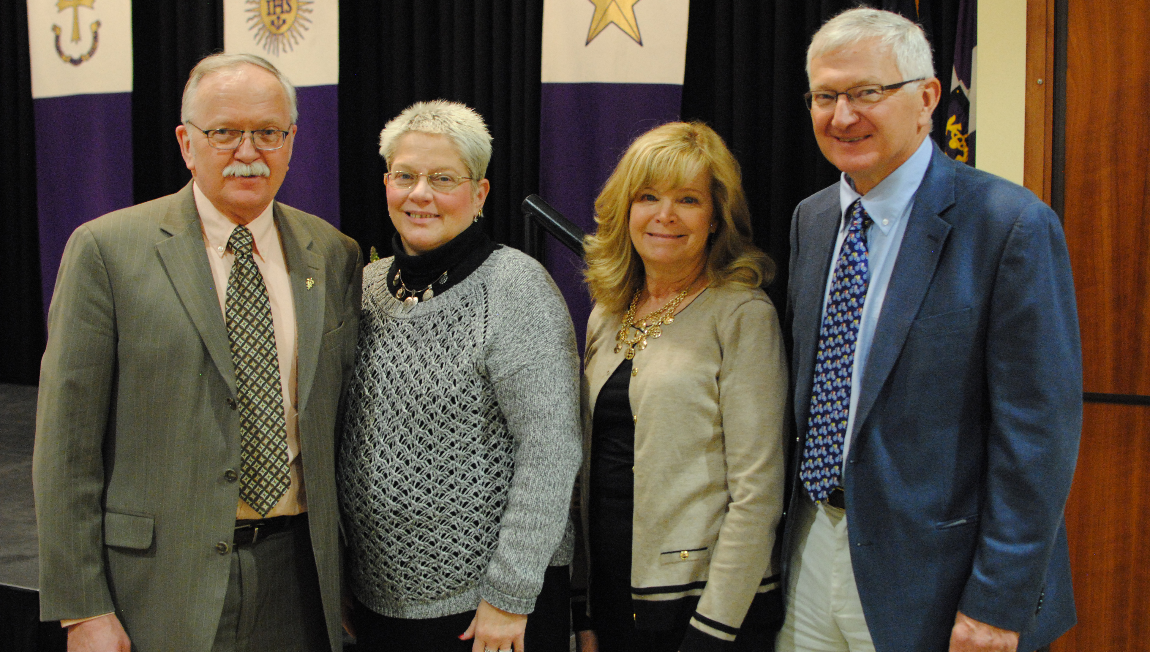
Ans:
{"label": "dark grey stage floor at far left beside man's olive suit", "polygon": [[0,584],[37,590],[32,500],[36,388],[0,384]]}

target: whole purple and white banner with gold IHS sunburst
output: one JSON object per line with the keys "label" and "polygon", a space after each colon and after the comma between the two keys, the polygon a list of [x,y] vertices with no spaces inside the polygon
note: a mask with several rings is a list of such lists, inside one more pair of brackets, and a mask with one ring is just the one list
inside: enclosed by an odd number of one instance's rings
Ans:
{"label": "whole purple and white banner with gold IHS sunburst", "polygon": [[296,85],[299,122],[276,199],[339,227],[339,1],[224,0],[224,52],[258,54]]}

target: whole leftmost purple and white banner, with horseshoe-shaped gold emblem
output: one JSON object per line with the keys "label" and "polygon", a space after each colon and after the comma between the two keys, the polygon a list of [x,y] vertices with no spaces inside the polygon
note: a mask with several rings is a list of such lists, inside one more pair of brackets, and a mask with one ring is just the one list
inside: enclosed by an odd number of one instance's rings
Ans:
{"label": "whole leftmost purple and white banner, with horseshoe-shaped gold emblem", "polygon": [[44,309],[84,222],[132,205],[131,0],[28,0]]}

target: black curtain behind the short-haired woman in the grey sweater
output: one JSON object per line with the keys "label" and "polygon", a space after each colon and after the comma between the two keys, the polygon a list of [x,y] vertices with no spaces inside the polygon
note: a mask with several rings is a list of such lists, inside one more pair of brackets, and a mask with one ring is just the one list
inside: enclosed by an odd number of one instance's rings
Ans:
{"label": "black curtain behind the short-haired woman in the grey sweater", "polygon": [[340,2],[340,224],[390,255],[379,130],[412,102],[475,108],[494,143],[483,213],[488,233],[523,247],[519,205],[539,176],[542,0]]}

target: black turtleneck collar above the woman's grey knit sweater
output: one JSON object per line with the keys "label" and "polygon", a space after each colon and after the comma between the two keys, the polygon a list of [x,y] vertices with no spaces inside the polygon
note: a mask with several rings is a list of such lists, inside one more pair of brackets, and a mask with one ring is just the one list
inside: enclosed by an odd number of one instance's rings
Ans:
{"label": "black turtleneck collar above the woman's grey knit sweater", "polygon": [[399,284],[396,283],[396,271],[402,275],[404,285],[416,294],[422,294],[424,287],[446,271],[447,279],[431,287],[436,294],[443,294],[478,269],[499,246],[483,232],[483,225],[478,222],[471,223],[454,238],[420,255],[408,255],[404,252],[404,243],[399,233],[396,233],[391,238],[391,250],[396,254],[396,260],[388,269],[388,290],[394,296],[399,289]]}

